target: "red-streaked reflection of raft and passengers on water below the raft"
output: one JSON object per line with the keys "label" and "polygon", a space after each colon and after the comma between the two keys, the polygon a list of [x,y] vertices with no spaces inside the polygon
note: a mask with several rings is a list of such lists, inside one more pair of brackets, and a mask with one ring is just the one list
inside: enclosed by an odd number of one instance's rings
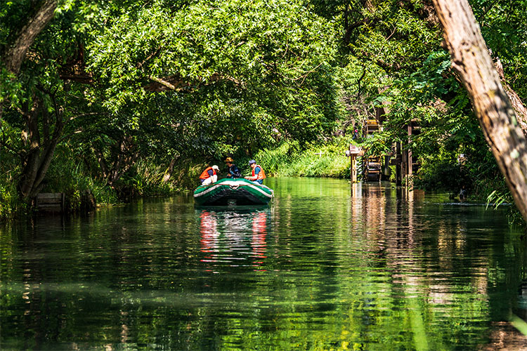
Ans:
{"label": "red-streaked reflection of raft and passengers on water below the raft", "polygon": [[212,267],[258,267],[266,256],[266,237],[271,211],[264,208],[197,210],[200,218],[200,251],[202,262]]}

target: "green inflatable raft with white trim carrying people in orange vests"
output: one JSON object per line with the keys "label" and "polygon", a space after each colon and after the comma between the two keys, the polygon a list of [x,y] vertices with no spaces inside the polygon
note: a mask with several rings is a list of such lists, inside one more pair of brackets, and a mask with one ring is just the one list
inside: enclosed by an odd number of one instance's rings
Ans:
{"label": "green inflatable raft with white trim carrying people in orange vests", "polygon": [[247,179],[224,178],[210,185],[201,185],[194,192],[198,205],[264,205],[273,198],[273,190]]}

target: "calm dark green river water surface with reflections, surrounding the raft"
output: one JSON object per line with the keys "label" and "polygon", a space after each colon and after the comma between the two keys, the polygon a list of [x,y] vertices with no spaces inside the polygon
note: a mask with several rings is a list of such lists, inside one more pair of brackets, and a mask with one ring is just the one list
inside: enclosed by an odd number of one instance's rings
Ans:
{"label": "calm dark green river water surface with reflections, surrounding the raft", "polygon": [[259,208],[172,197],[0,227],[1,350],[477,350],[526,317],[503,211],[266,185]]}

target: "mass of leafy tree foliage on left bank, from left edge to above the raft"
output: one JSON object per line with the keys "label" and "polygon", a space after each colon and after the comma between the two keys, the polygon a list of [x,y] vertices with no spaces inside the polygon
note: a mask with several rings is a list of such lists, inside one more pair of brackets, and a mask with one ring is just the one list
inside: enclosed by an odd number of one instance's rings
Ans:
{"label": "mass of leafy tree foliage on left bank, from left edge to above the raft", "polygon": [[[0,53],[32,5],[0,6]],[[43,172],[44,189],[67,192],[73,206],[83,189],[107,181],[119,191],[167,194],[175,186],[158,176],[173,158],[223,159],[330,133],[334,33],[301,3],[281,0],[60,1],[18,77],[1,71],[9,131],[1,146],[27,155],[29,143],[16,135],[42,135],[31,150],[43,157],[53,135],[58,152],[71,147]],[[152,92],[156,79],[176,89]],[[28,133],[22,114],[37,102]],[[108,180],[112,171],[118,176]],[[114,190],[93,191],[115,201]]]}

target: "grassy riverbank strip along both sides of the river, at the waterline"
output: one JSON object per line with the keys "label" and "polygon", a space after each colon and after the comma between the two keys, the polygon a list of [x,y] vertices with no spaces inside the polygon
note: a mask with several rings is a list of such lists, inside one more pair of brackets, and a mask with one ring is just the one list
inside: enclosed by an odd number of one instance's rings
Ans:
{"label": "grassy riverbank strip along both sides of the river, at the waterline", "polygon": [[[275,177],[322,177],[349,179],[349,158],[344,156],[344,150],[354,140],[340,137],[327,143],[304,145],[285,142],[275,148],[256,152],[252,156],[246,154],[233,155],[235,164],[240,168],[242,176],[248,176],[251,169],[249,159],[255,159],[266,171],[267,176]],[[450,157],[451,158],[451,157]],[[82,194],[89,191],[98,206],[122,204],[131,199],[141,197],[170,196],[180,192],[190,192],[197,186],[200,173],[207,166],[217,164],[221,170],[220,178],[226,175],[224,157],[206,160],[204,158],[178,159],[174,162],[170,177],[167,177],[167,164],[160,164],[155,159],[140,159],[126,171],[118,182],[109,185],[106,180],[93,176],[83,163],[76,161],[68,152],[57,152],[46,184],[41,192],[61,192],[67,199],[67,212],[79,211],[82,207]],[[451,192],[454,196],[459,192],[460,180],[469,184],[469,198],[476,201],[486,201],[488,194],[493,194],[492,203],[500,201],[512,202],[502,177],[489,173],[486,180],[477,178],[478,164],[468,163],[464,168],[456,166],[448,157],[428,160],[415,173],[415,186],[420,189]],[[6,168],[4,168],[6,169]],[[16,182],[18,168],[13,166],[9,171],[0,174],[0,220],[31,213],[33,208],[18,197]],[[476,176],[474,176],[476,174]],[[492,178],[494,177],[494,178]],[[474,180],[475,179],[475,180]],[[497,190],[497,191],[495,191]],[[503,199],[503,200],[501,200]],[[511,223],[524,225],[515,206],[509,209]]]}

